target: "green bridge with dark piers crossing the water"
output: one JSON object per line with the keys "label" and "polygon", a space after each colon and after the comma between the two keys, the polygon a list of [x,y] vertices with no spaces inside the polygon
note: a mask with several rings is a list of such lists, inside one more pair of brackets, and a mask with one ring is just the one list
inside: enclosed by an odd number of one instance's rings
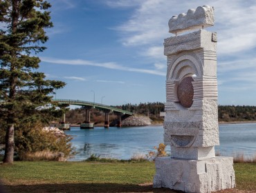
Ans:
{"label": "green bridge with dark piers crossing the water", "polygon": [[[53,99],[53,101],[60,103],[60,104],[84,106],[85,107],[85,121],[84,121],[84,123],[81,123],[80,128],[93,128],[94,123],[91,123],[91,120],[90,120],[92,108],[96,108],[105,113],[104,128],[109,128],[109,112],[114,112],[115,114],[118,115],[118,127],[121,127],[121,116],[122,115],[125,115],[125,114],[127,114],[129,116],[133,115],[132,112],[129,112],[126,110],[114,108],[113,106],[104,105],[104,104],[100,104],[100,103],[92,103],[89,101],[70,100],[70,99]],[[64,120],[64,122],[65,122],[65,120]],[[64,124],[64,127],[65,127],[65,124]]]}

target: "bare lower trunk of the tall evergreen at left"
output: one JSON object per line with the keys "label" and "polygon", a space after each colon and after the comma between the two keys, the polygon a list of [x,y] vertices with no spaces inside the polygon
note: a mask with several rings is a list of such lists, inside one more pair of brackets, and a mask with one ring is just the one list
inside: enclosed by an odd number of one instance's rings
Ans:
{"label": "bare lower trunk of the tall evergreen at left", "polygon": [[15,152],[15,125],[8,125],[6,130],[6,151],[4,153],[3,163],[13,163],[13,154]]}

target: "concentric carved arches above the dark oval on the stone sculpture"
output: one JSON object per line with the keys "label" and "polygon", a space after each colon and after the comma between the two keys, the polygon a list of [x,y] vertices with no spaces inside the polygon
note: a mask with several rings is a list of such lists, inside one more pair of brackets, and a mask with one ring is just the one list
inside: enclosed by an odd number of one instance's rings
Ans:
{"label": "concentric carved arches above the dark oval on the stone sculpture", "polygon": [[[181,68],[185,68],[185,66],[188,66],[187,68],[192,68],[191,70],[196,75],[196,77],[202,77],[203,76],[203,63],[201,59],[198,57],[198,55],[194,52],[181,52],[181,54],[178,54],[174,59],[172,59],[172,63],[168,65],[167,68],[167,82],[170,80],[178,80],[182,79],[180,76]],[[172,72],[172,74],[170,74]],[[190,72],[187,73],[191,74]],[[186,73],[183,74],[183,77],[186,76]]]}

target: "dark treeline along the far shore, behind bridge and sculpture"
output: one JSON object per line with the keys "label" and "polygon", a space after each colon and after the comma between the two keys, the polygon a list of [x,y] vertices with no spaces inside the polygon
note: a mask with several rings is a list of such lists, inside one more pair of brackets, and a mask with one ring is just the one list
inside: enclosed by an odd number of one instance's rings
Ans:
{"label": "dark treeline along the far shore, behind bridge and sculpture", "polygon": [[[160,112],[165,111],[165,105],[161,102],[156,103],[140,103],[115,106],[122,110],[134,112],[135,114],[144,114],[149,116],[153,121],[163,121]],[[248,105],[219,105],[219,121],[256,121],[256,107]],[[84,121],[85,111],[83,108],[70,110],[66,113],[66,122],[69,123],[82,123]],[[116,119],[116,115],[112,114],[110,119]],[[98,110],[91,110],[91,121],[103,122],[104,113]]]}

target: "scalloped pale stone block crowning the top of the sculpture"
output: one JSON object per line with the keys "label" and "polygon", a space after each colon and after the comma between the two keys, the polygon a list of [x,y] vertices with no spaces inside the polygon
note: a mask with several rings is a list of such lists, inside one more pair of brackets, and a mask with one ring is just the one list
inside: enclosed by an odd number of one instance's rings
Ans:
{"label": "scalloped pale stone block crowning the top of the sculpture", "polygon": [[176,34],[206,28],[214,25],[214,8],[210,6],[199,6],[188,10],[187,14],[181,13],[178,16],[173,16],[169,22],[169,32]]}

